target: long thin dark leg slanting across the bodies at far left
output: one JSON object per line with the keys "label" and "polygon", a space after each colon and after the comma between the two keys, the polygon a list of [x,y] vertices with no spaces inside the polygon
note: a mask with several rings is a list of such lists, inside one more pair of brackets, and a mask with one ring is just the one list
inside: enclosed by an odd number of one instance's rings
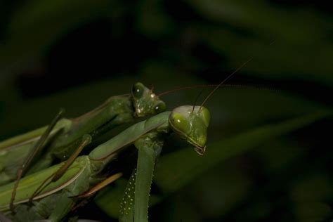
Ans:
{"label": "long thin dark leg slanting across the bodies at far left", "polygon": [[52,120],[51,124],[48,125],[48,128],[46,129],[46,131],[44,131],[43,135],[41,135],[41,138],[39,138],[39,141],[37,141],[36,145],[34,146],[34,148],[32,149],[32,152],[30,152],[30,154],[27,156],[27,159],[25,159],[25,162],[22,164],[21,168],[18,169],[18,175],[16,178],[16,182],[13,188],[13,192],[12,192],[12,196],[11,196],[11,211],[15,212],[14,209],[14,201],[15,201],[15,195],[16,195],[16,190],[18,189],[18,183],[20,183],[20,179],[22,178],[22,176],[24,176],[24,174],[27,172],[27,169],[29,169],[30,164],[32,163],[32,160],[34,159],[34,157],[37,155],[37,153],[44,148],[46,139],[48,138],[48,136],[50,135],[51,131],[53,130],[55,124],[57,124],[57,122],[59,121],[59,119],[61,119],[61,117],[63,117],[63,113],[65,112],[65,110],[61,109],[58,114],[55,116],[55,118]]}

